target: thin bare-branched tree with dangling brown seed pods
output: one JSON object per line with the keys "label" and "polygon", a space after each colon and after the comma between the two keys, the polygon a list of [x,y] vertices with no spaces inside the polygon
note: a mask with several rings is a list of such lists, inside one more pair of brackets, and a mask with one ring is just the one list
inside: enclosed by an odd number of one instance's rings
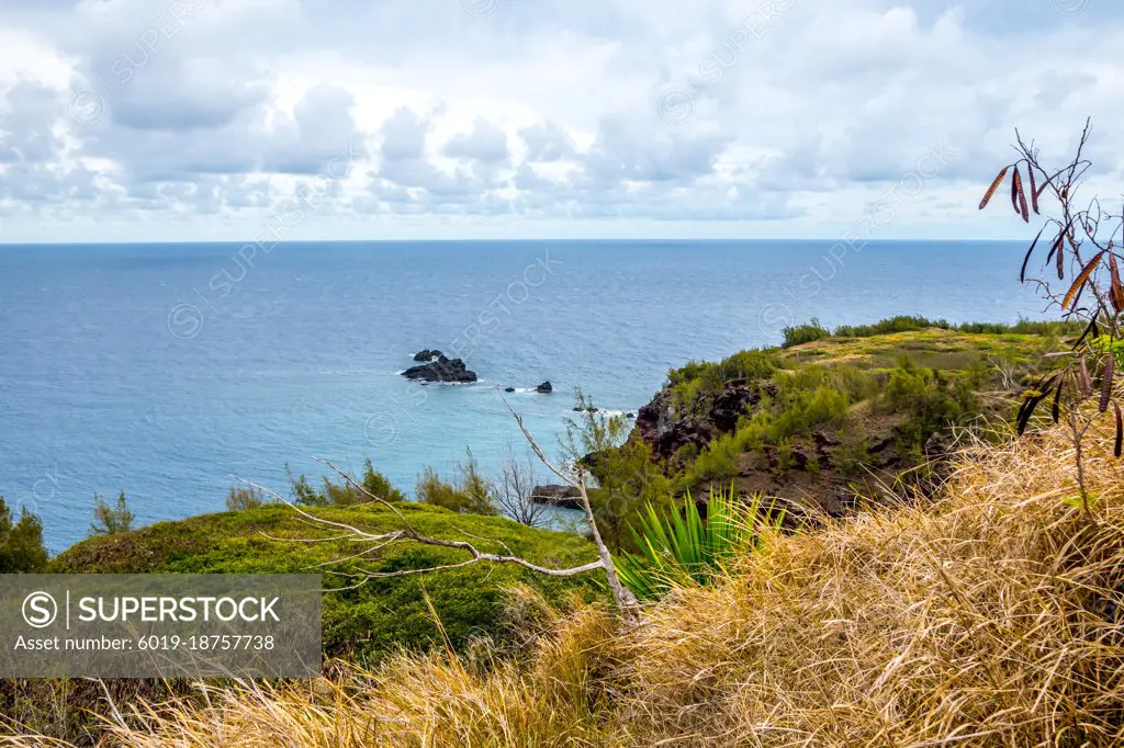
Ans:
{"label": "thin bare-branched tree with dangling brown seed pods", "polygon": [[[1043,217],[1044,225],[1023,258],[1019,281],[1036,285],[1048,308],[1057,307],[1063,319],[1084,323],[1084,332],[1071,341],[1060,366],[1024,393],[1016,427],[1022,435],[1037,407],[1050,402],[1051,419],[1064,421],[1072,436],[1078,501],[1086,513],[1093,496],[1085,483],[1085,435],[1109,405],[1115,417],[1116,457],[1124,443],[1124,414],[1114,392],[1116,364],[1124,354],[1120,273],[1124,210],[1114,210],[1097,197],[1082,202],[1078,194],[1091,166],[1084,155],[1089,135],[1087,121],[1072,159],[1050,168],[1040,161],[1034,142],[1026,143],[1016,130],[1018,157],[999,171],[980,201],[984,210],[1009,181],[1015,215],[1026,224],[1032,215]],[[1028,273],[1035,266],[1032,262],[1042,268],[1041,276]]]}

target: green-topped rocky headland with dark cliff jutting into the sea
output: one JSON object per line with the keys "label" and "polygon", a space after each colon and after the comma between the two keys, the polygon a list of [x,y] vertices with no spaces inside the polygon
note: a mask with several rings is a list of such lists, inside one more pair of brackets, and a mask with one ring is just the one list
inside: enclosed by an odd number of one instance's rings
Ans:
{"label": "green-topped rocky headland with dark cliff jutting into the sea", "polygon": [[732,483],[844,513],[879,484],[934,477],[958,427],[1008,436],[1042,355],[1071,331],[912,317],[790,328],[779,348],[673,370],[632,441],[679,492]]}

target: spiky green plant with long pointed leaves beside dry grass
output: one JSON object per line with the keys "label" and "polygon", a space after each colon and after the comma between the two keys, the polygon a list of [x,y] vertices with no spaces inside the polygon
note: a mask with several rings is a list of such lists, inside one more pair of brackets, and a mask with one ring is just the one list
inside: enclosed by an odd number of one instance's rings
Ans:
{"label": "spiky green plant with long pointed leaves beside dry grass", "polygon": [[728,564],[760,542],[763,530],[776,531],[782,509],[764,504],[761,495],[743,501],[729,491],[710,487],[706,519],[687,494],[682,511],[660,512],[647,504],[638,528],[632,528],[638,553],[625,551],[617,562],[620,581],[641,601],[662,598],[677,587],[705,585]]}

